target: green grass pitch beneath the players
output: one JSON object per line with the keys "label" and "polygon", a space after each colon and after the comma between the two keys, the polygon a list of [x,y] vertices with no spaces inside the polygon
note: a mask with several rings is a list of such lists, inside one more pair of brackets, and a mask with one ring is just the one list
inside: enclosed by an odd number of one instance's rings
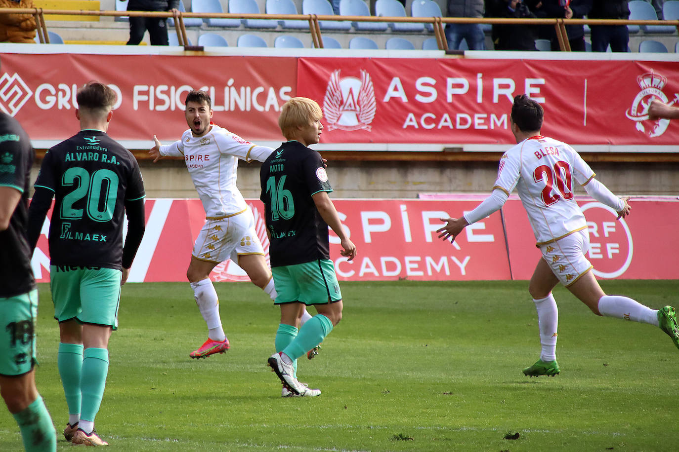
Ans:
{"label": "green grass pitch beneath the players", "polygon": [[[678,281],[605,281],[659,308]],[[187,283],[124,286],[96,426],[124,451],[677,451],[679,350],[650,325],[594,316],[562,287],[557,377],[521,373],[540,345],[527,283],[342,283],[344,320],[281,398],[265,366],[275,308],[249,283],[217,283],[232,348],[188,354],[206,328]],[[37,383],[58,432],[67,406],[58,328],[40,286]],[[507,436],[507,439],[505,438]],[[516,438],[516,439],[511,439]],[[22,450],[0,415],[0,451]]]}

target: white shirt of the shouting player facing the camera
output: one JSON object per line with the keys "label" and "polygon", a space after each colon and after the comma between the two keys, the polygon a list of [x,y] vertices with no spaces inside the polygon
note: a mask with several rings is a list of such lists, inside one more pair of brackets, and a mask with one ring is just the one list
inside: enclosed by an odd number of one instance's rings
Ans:
{"label": "white shirt of the shouting player facing the camera", "polygon": [[236,215],[247,208],[236,186],[238,159],[263,162],[274,150],[256,146],[213,123],[210,125],[210,131],[202,137],[194,137],[188,129],[181,140],[160,146],[160,155],[184,158],[206,218],[216,219]]}

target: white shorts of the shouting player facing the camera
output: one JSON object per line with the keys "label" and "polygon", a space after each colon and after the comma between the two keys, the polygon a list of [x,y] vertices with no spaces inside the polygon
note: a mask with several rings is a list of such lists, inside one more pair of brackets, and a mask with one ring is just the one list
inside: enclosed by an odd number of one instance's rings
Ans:
{"label": "white shorts of the shouting player facing the camera", "polygon": [[246,254],[264,255],[250,207],[231,217],[205,220],[191,253],[198,260],[216,264],[227,259],[238,264],[238,256]]}

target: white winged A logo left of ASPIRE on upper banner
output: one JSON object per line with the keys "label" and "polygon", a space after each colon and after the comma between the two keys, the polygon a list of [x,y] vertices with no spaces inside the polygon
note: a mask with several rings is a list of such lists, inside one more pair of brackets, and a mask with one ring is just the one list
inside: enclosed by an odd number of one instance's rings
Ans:
{"label": "white winged A logo left of ASPIRE on upper banner", "polygon": [[339,77],[339,69],[330,76],[323,99],[328,130],[370,130],[375,119],[375,87],[367,70],[361,78]]}

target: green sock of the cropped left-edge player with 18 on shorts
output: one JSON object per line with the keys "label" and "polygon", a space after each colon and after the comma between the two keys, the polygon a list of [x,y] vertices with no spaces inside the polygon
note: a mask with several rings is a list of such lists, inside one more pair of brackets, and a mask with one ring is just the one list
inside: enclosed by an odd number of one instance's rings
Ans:
{"label": "green sock of the cropped left-edge player with 18 on shorts", "polygon": [[41,396],[13,416],[19,424],[26,452],[56,451],[56,431]]}

